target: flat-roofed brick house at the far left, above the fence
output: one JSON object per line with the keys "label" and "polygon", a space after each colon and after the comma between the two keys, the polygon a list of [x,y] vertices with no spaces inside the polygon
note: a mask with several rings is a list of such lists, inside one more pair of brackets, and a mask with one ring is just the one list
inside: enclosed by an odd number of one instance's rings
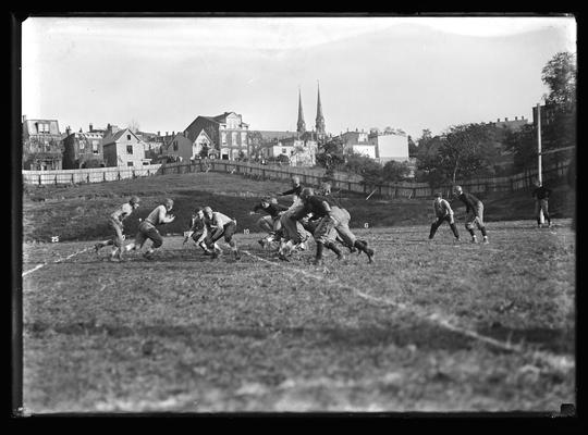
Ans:
{"label": "flat-roofed brick house at the far left, above the fence", "polygon": [[23,169],[61,170],[62,139],[57,120],[27,120],[23,116]]}

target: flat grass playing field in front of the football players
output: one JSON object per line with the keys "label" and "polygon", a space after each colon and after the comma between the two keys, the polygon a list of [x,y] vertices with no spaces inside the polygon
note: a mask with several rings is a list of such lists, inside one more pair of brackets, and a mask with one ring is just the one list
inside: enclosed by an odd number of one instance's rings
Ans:
{"label": "flat grass playing field in front of the football players", "polygon": [[[314,244],[212,261],[167,237],[152,261],[91,241],[23,246],[29,412],[558,412],[575,402],[569,220],[354,229],[375,264]],[[77,253],[79,252],[79,253]],[[106,257],[107,252],[101,256]]]}

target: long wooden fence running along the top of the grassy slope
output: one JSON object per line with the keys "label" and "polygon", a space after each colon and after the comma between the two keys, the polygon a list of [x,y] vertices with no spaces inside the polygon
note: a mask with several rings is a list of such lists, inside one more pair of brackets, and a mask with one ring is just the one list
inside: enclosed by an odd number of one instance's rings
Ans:
{"label": "long wooden fence running along the top of the grassy slope", "polygon": [[[549,184],[565,177],[568,162],[546,167],[543,182]],[[220,172],[240,174],[254,179],[290,179],[294,175],[301,177],[306,186],[318,187],[326,179],[326,170],[298,166],[269,166],[249,162],[226,160],[208,160],[199,162],[176,162],[152,164],[143,167],[96,167],[86,170],[62,171],[23,171],[23,183],[27,185],[100,183],[139,176],[185,174],[194,172]],[[537,171],[504,177],[474,178],[457,181],[464,190],[486,196],[491,192],[512,192],[532,187]],[[430,186],[428,183],[391,183],[370,185],[355,174],[335,173],[330,177],[331,189],[357,194],[376,195],[383,198],[430,198],[437,191],[445,197],[451,194],[452,185]]]}

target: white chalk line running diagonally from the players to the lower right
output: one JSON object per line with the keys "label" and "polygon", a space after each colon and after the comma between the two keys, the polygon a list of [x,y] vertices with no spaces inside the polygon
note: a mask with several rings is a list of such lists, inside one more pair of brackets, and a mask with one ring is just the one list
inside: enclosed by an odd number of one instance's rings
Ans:
{"label": "white chalk line running diagonally from the players to the lower right", "polygon": [[[258,259],[258,260],[260,260],[260,261],[262,261],[265,263],[279,266],[280,269],[286,269],[286,268],[283,268],[282,264],[280,264],[280,263],[266,260],[266,259],[264,259],[261,257],[258,257],[258,256],[256,256],[254,253],[250,253],[248,251],[243,250],[242,252],[246,253],[249,257],[256,258],[256,259]],[[464,327],[461,327],[461,326],[453,325],[441,313],[432,313],[432,314],[424,313],[417,307],[414,307],[414,306],[409,307],[406,303],[396,302],[396,301],[385,299],[385,298],[378,298],[378,297],[368,295],[368,294],[366,294],[366,293],[364,293],[362,290],[358,290],[356,288],[346,286],[345,284],[341,283],[339,279],[328,279],[324,276],[320,276],[320,275],[309,273],[309,272],[307,272],[307,271],[305,271],[303,269],[287,268],[287,270],[291,271],[291,272],[294,272],[294,273],[295,272],[302,273],[303,275],[313,277],[313,278],[318,279],[318,281],[327,282],[327,283],[329,283],[331,285],[334,285],[334,286],[336,286],[339,288],[342,288],[342,289],[345,289],[345,290],[351,290],[352,294],[354,294],[355,296],[358,296],[358,297],[360,297],[363,299],[367,299],[369,301],[380,303],[380,304],[384,304],[384,306],[394,307],[394,308],[396,308],[399,310],[402,310],[402,311],[409,311],[409,312],[414,313],[415,315],[417,315],[420,319],[424,319],[424,320],[427,320],[429,322],[436,323],[436,324],[438,324],[438,325],[440,325],[440,326],[442,326],[442,327],[444,327],[446,330],[450,330],[450,331],[455,332],[457,334],[462,334],[462,335],[465,335],[467,337],[474,338],[474,339],[476,339],[478,341],[486,343],[486,344],[494,346],[497,348],[500,348],[500,349],[503,349],[503,350],[509,350],[509,351],[514,351],[514,352],[517,352],[517,353],[525,353],[525,352],[528,351],[528,349],[525,349],[520,345],[497,340],[494,338],[487,337],[485,335],[480,335],[480,334],[476,333],[475,331],[470,331],[470,330],[467,330],[467,328],[464,328]],[[535,358],[540,359],[540,360],[549,363],[550,365],[554,365],[555,368],[571,369],[571,368],[573,368],[575,365],[575,362],[573,360],[569,360],[569,358],[567,358],[566,356],[558,356],[558,355],[547,352],[547,351],[534,351],[532,355],[534,355]]]}

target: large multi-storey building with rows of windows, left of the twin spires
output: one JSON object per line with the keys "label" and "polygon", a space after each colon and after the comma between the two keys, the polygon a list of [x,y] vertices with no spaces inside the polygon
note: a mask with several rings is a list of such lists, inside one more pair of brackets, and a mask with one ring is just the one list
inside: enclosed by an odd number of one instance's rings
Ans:
{"label": "large multi-storey building with rows of windows, left of the twin spires", "polygon": [[249,125],[243,122],[242,115],[224,112],[218,116],[196,117],[184,130],[184,136],[192,144],[201,145],[209,140],[211,158],[237,160],[249,156],[248,130]]}

